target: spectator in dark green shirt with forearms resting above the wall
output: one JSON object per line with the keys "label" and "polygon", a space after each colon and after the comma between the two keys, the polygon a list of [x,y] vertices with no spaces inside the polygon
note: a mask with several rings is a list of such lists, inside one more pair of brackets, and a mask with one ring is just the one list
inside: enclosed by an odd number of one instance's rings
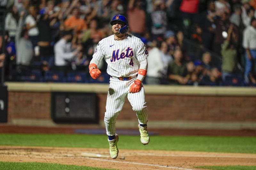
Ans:
{"label": "spectator in dark green shirt with forearms resting above the wall", "polygon": [[168,84],[185,85],[188,82],[188,71],[186,64],[182,61],[183,55],[180,49],[175,50],[174,60],[168,66]]}

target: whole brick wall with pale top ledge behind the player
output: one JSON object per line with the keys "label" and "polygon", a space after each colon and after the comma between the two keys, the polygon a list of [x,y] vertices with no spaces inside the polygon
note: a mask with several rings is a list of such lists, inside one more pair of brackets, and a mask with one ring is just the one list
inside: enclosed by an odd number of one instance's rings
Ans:
{"label": "whole brick wall with pale top ledge behind the player", "polygon": [[[56,126],[51,121],[51,91],[96,92],[103,124],[108,85],[6,83],[8,123]],[[154,128],[256,129],[256,89],[242,87],[147,86],[148,124]],[[117,127],[138,123],[126,99]]]}

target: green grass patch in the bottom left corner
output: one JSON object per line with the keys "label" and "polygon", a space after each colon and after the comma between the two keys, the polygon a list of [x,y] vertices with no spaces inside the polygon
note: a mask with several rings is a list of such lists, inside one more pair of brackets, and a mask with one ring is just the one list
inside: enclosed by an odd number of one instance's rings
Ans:
{"label": "green grass patch in the bottom left corner", "polygon": [[110,170],[89,166],[49,164],[38,162],[0,162],[0,169],[4,170]]}

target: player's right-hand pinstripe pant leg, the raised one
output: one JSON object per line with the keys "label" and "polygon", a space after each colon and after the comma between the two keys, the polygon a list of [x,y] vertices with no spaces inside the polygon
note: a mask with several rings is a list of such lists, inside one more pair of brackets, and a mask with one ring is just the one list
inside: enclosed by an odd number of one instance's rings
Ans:
{"label": "player's right-hand pinstripe pant leg, the raised one", "polygon": [[132,105],[132,110],[136,112],[140,124],[148,122],[148,108],[145,101],[144,87],[141,87],[140,92],[128,93],[128,100]]}

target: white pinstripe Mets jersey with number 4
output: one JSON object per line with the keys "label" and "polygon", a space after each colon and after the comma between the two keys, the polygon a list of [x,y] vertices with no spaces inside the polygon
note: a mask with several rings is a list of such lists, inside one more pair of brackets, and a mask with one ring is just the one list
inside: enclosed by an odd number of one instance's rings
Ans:
{"label": "white pinstripe Mets jersey with number 4", "polygon": [[102,39],[92,57],[98,61],[105,59],[110,76],[130,77],[138,74],[139,61],[147,59],[147,56],[144,43],[126,33],[126,38],[121,41],[114,40],[114,35]]}

